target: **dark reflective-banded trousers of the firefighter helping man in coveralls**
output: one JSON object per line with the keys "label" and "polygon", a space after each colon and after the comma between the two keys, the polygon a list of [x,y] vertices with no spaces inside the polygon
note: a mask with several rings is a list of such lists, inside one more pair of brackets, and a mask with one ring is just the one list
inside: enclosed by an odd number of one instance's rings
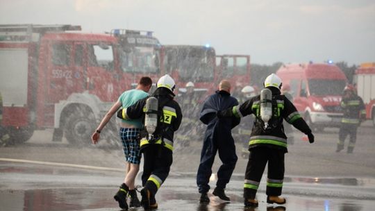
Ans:
{"label": "dark reflective-banded trousers of the firefighter helping man in coveralls", "polygon": [[267,146],[256,146],[251,149],[245,173],[244,199],[255,199],[267,162],[266,194],[267,196],[281,195],[285,171],[284,155],[285,151]]}

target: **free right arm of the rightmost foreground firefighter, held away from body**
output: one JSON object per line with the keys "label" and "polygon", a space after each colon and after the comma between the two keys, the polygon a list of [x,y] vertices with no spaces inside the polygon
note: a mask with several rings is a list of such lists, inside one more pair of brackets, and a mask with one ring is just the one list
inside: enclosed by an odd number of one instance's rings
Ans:
{"label": "free right arm of the rightmost foreground firefighter, held away from body", "polygon": [[290,102],[286,97],[284,98],[284,110],[283,112],[283,118],[285,121],[287,121],[289,124],[292,124],[294,128],[297,128],[302,133],[305,133],[308,136],[308,142],[310,144],[315,142],[315,137],[313,133],[311,133],[311,129],[306,124],[306,121],[303,120],[301,115],[299,115],[299,112],[297,111],[296,107],[294,107],[293,103]]}

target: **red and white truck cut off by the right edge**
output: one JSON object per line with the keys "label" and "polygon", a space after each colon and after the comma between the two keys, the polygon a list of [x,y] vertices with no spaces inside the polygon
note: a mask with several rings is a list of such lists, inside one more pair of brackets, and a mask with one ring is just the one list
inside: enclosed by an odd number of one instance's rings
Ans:
{"label": "red and white truck cut off by the right edge", "polygon": [[355,81],[358,96],[366,106],[366,118],[375,126],[375,62],[363,63],[356,69]]}

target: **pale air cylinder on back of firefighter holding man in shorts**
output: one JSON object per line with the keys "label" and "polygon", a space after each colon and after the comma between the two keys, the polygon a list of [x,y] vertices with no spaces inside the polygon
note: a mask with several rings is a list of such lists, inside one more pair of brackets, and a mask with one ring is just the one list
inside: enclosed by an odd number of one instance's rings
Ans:
{"label": "pale air cylinder on back of firefighter holding man in shorts", "polygon": [[155,96],[150,96],[146,101],[146,115],[144,117],[144,128],[149,133],[149,140],[152,139],[156,126],[158,126],[158,99]]}

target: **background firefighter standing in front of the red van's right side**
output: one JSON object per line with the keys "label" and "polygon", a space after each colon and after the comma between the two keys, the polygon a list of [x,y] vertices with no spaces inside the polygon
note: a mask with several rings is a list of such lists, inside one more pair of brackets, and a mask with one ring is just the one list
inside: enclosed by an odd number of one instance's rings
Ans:
{"label": "background firefighter standing in front of the red van's right side", "polygon": [[340,106],[342,108],[343,117],[339,130],[338,148],[336,152],[344,149],[344,141],[347,135],[350,136],[347,153],[353,153],[356,145],[357,128],[362,119],[366,117],[365,104],[363,100],[356,94],[353,85],[344,87]]}

